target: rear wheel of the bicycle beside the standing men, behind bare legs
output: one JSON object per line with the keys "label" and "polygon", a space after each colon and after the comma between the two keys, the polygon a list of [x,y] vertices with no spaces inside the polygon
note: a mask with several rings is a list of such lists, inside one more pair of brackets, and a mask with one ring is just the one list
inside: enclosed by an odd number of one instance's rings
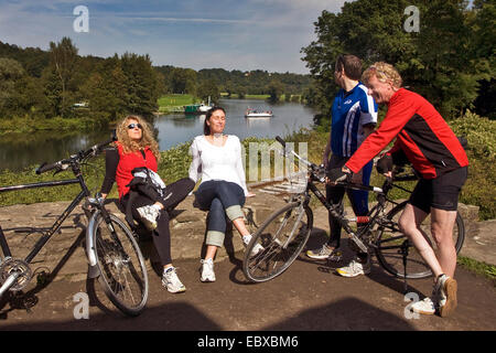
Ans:
{"label": "rear wheel of the bicycle beside the standing men, behind bare legs", "polygon": [[[376,240],[376,255],[382,267],[390,274],[405,278],[405,266],[401,246],[407,237],[399,232],[398,218],[405,210],[407,201],[400,203],[386,215],[385,228]],[[431,235],[431,217],[428,216],[421,224],[422,231],[429,238],[431,246],[436,252],[435,242]],[[465,226],[460,213],[456,213],[456,222],[453,226],[453,244],[456,254],[463,246],[465,239]],[[405,243],[407,245],[407,243]],[[407,278],[425,278],[432,275],[430,267],[424,263],[419,252],[411,243],[408,243]]]}

